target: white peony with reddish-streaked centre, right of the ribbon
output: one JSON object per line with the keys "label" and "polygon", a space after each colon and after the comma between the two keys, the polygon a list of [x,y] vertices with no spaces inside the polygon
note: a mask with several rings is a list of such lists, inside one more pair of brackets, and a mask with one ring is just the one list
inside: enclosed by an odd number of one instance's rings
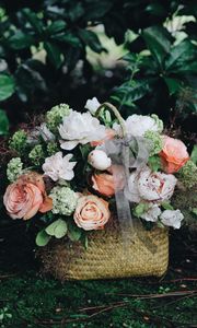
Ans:
{"label": "white peony with reddish-streaked centre, right of the ribbon", "polygon": [[176,181],[172,174],[151,172],[144,166],[140,172],[131,173],[125,195],[131,202],[146,200],[162,203],[173,196]]}

